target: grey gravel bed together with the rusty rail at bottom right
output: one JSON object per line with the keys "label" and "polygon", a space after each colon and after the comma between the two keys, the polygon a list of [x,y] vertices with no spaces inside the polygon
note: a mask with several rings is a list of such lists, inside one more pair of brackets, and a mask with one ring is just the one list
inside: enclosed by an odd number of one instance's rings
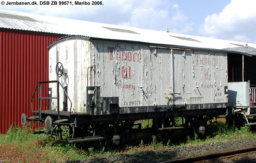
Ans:
{"label": "grey gravel bed together with the rusty rail at bottom right", "polygon": [[[233,140],[228,142],[215,142],[209,144],[201,144],[196,146],[172,146],[167,149],[143,150],[134,153],[113,153],[103,157],[89,157],[81,160],[70,160],[66,163],[168,163],[172,162],[211,162],[211,163],[230,163],[230,162],[255,162],[256,138],[247,138],[241,140]],[[251,147],[251,148],[247,148]],[[237,150],[244,148],[242,150]],[[131,148],[127,148],[130,150]],[[219,151],[230,151],[221,152]],[[214,154],[211,154],[214,153]],[[242,154],[241,154],[242,153]],[[211,155],[209,155],[211,154]],[[194,157],[198,156],[198,157]],[[202,156],[208,156],[203,158]],[[194,157],[194,160],[183,158]],[[211,158],[210,158],[211,157]],[[195,160],[197,158],[197,160]],[[180,160],[177,160],[180,159]],[[245,160],[245,161],[244,161]]]}

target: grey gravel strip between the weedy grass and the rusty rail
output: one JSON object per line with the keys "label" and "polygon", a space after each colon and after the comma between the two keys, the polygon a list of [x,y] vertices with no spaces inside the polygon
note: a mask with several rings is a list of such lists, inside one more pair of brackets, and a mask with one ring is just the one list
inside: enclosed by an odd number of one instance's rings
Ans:
{"label": "grey gravel strip between the weedy grass and the rusty rail", "polygon": [[153,151],[143,151],[134,154],[110,155],[100,158],[87,158],[66,163],[157,163],[163,161],[176,160],[200,156],[210,153],[223,152],[228,150],[241,149],[256,145],[256,138],[234,140],[229,142],[215,142],[196,146],[170,147],[168,149],[158,149]]}

